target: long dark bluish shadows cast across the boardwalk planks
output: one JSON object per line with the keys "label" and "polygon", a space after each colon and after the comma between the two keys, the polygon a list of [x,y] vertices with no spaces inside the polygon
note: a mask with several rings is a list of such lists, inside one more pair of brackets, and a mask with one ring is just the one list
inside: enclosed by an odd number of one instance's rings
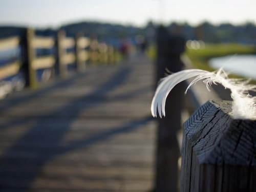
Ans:
{"label": "long dark bluish shadows cast across the boardwalk planks", "polygon": [[[75,139],[66,142],[65,144],[62,142],[63,139],[65,139],[67,132],[71,131],[74,121],[84,118],[80,115],[81,111],[90,111],[92,108],[101,106],[101,104],[114,102],[115,100],[125,102],[126,99],[135,98],[152,91],[152,86],[145,86],[143,88],[135,88],[131,91],[125,91],[124,93],[113,97],[107,96],[108,93],[124,86],[125,82],[133,72],[132,70],[134,69],[127,65],[118,67],[115,73],[112,74],[106,82],[101,83],[100,86],[94,89],[91,93],[84,96],[72,97],[69,102],[52,110],[50,113],[43,114],[42,116],[25,115],[23,117],[21,115],[20,117],[22,118],[14,118],[12,115],[8,116],[10,120],[1,124],[1,130],[8,131],[13,129],[12,127],[26,124],[26,122],[31,120],[33,120],[34,123],[21,137],[14,140],[8,148],[2,150],[0,157],[0,187],[2,189],[29,189],[33,185],[35,179],[40,177],[42,167],[55,157],[68,152],[77,151],[81,148],[84,149],[85,147],[110,139],[119,134],[133,132],[148,124],[152,118],[145,115],[142,118],[131,118],[129,121],[122,123],[122,125],[101,130],[85,138]],[[55,89],[72,86],[72,84],[79,78],[82,78],[82,75],[61,81],[33,94],[13,98],[6,103],[3,102],[0,105],[2,114],[4,115],[5,110],[15,108],[15,105],[25,101],[29,102],[31,99],[37,98],[38,102],[41,102],[41,95],[47,95],[47,93],[50,93]],[[51,102],[55,102],[55,100]],[[134,110],[136,111],[136,109]],[[24,113],[26,113],[26,109],[24,109]],[[106,110],[106,113],[108,113],[108,110]],[[51,124],[55,124],[56,127],[53,128],[55,131],[50,130],[51,127],[47,127],[47,125]],[[11,134],[8,133],[7,136],[8,135],[11,137]],[[63,183],[63,185],[65,184]],[[73,189],[79,190],[75,185],[73,187]],[[47,189],[48,186],[39,185],[39,187],[35,188]],[[56,185],[53,188],[61,189],[62,186]],[[80,189],[85,188],[80,186]]]}

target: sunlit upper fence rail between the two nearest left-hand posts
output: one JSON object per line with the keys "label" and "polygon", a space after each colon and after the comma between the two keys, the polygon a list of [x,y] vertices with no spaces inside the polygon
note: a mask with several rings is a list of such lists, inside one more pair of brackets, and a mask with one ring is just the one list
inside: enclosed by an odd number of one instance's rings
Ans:
{"label": "sunlit upper fence rail between the two nearest left-hand posts", "polygon": [[35,36],[32,39],[31,43],[34,49],[38,49],[38,48],[51,49],[55,44],[55,40],[53,37]]}

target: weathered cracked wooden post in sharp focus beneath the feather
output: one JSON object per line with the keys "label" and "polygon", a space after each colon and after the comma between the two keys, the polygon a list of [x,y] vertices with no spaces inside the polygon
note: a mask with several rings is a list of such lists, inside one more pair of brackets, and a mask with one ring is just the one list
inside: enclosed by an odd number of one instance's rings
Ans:
{"label": "weathered cracked wooden post in sharp focus beneath the feather", "polygon": [[256,191],[256,120],[230,111],[208,101],[184,123],[181,192]]}

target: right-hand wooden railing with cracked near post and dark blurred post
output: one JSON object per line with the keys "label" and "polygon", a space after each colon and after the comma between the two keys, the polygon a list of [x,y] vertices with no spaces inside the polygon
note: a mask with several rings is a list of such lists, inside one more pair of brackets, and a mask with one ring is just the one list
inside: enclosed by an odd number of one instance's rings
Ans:
{"label": "right-hand wooden railing with cracked near post and dark blurred post", "polygon": [[[177,72],[187,67],[180,60],[182,47],[181,38],[170,36],[164,29],[160,31],[157,80],[164,77],[166,68]],[[158,119],[154,191],[256,191],[256,120],[233,119],[229,115],[230,101],[207,102],[219,97],[200,83],[190,88],[186,96],[189,101],[185,102],[183,96],[188,83],[180,84],[170,93],[166,117]],[[180,150],[176,135],[183,127],[182,110],[196,112],[184,123],[181,174],[177,174]],[[181,175],[180,182],[178,175]]]}

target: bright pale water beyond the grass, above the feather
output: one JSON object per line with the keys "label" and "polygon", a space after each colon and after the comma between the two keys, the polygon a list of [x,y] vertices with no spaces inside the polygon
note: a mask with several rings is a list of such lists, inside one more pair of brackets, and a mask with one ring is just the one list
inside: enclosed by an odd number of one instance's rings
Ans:
{"label": "bright pale water beyond the grass, above the feather", "polygon": [[256,79],[256,55],[231,55],[209,60],[214,69],[224,67],[226,72]]}

